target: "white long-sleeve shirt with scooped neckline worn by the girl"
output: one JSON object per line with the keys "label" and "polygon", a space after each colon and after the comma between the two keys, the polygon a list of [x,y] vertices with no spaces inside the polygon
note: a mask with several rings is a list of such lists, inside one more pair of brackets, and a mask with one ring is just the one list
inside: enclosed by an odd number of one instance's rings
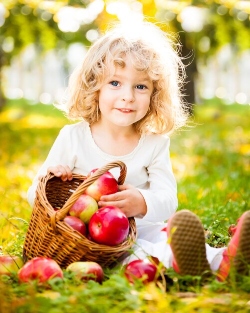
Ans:
{"label": "white long-sleeve shirt with scooped neckline worn by the girl", "polygon": [[[169,145],[168,136],[142,134],[132,152],[114,156],[105,153],[96,145],[86,121],[66,125],[60,130],[45,162],[28,189],[28,202],[33,206],[38,176],[45,175],[49,166],[68,165],[72,172],[87,175],[94,168],[121,160],[127,166],[124,183],[135,186],[147,204],[147,213],[142,218],[135,218],[136,224],[163,223],[176,211],[178,203]],[[118,178],[120,168],[113,168],[110,172]]]}

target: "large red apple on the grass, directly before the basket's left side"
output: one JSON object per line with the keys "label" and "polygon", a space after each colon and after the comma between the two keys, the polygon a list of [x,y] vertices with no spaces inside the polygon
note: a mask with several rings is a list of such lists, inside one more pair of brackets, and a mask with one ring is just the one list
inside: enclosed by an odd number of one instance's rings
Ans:
{"label": "large red apple on the grass, directly before the basket's left side", "polygon": [[17,276],[20,282],[30,282],[37,280],[42,283],[54,277],[63,278],[63,272],[60,266],[49,257],[38,256],[27,261]]}

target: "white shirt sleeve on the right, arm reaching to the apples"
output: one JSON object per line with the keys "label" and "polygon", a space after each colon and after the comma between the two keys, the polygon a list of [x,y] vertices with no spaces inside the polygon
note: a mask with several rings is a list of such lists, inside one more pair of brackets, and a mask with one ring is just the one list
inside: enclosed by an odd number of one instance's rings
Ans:
{"label": "white shirt sleeve on the right, arm reaching to the apples", "polygon": [[143,216],[146,221],[165,221],[178,206],[177,184],[170,161],[169,146],[169,137],[163,137],[163,142],[155,149],[147,168],[149,189],[138,188],[147,204],[147,213]]}

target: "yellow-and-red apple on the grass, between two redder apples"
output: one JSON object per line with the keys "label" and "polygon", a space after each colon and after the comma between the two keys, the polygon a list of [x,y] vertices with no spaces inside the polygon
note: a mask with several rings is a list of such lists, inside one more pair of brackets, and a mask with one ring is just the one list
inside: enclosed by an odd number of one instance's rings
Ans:
{"label": "yellow-and-red apple on the grass, between two redder apples", "polygon": [[69,264],[66,268],[71,272],[74,272],[76,277],[82,280],[95,280],[102,282],[103,280],[103,269],[101,265],[91,261],[79,261]]}

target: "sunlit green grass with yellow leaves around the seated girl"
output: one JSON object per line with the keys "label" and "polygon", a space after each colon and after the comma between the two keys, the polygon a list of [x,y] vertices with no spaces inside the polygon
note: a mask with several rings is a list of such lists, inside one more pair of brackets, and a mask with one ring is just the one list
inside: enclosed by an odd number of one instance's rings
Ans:
{"label": "sunlit green grass with yellow leaves around the seated girl", "polygon": [[[207,242],[219,247],[230,240],[230,224],[250,209],[250,107],[209,101],[194,114],[196,126],[171,138],[178,209],[194,211],[209,231]],[[66,123],[52,106],[24,100],[8,101],[0,112],[2,252],[21,255],[31,213],[26,191]],[[233,273],[225,283],[202,282],[168,269],[157,285],[131,286],[122,269],[106,269],[102,285],[65,274],[44,287],[19,284],[13,274],[0,277],[0,312],[248,312],[249,292],[250,277]]]}

